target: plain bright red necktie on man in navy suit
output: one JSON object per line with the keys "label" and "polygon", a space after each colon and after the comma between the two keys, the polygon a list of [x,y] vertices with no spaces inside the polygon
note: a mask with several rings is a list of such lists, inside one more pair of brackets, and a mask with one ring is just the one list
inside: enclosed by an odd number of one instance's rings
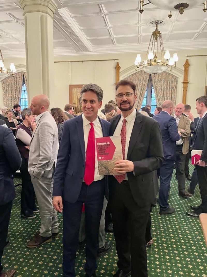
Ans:
{"label": "plain bright red necktie on man in navy suit", "polygon": [[91,129],[88,134],[85,173],[84,173],[84,182],[88,186],[94,181],[94,174],[95,174],[95,132],[94,132],[94,124],[91,122],[90,125],[91,125]]}

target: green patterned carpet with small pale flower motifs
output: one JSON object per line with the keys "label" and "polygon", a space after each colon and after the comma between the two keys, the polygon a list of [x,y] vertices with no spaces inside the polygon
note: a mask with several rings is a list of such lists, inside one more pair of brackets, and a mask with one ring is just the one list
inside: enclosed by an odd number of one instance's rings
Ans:
{"label": "green patterned carpet with small pale flower motifs", "polygon": [[[193,167],[190,165],[190,173]],[[15,179],[15,184],[20,179]],[[189,181],[186,180],[186,189]],[[4,269],[17,270],[15,277],[53,277],[62,276],[62,215],[59,214],[60,236],[43,247],[28,249],[26,242],[40,227],[39,214],[34,219],[20,217],[21,186],[16,188],[9,225],[9,245],[4,248],[2,264]],[[190,204],[200,204],[198,186],[190,199],[182,199],[178,195],[177,181],[173,174],[169,202],[176,212],[168,216],[159,215],[159,206],[152,211],[152,235],[154,244],[147,249],[148,276],[207,277],[207,249],[203,238],[199,219],[185,214]],[[113,242],[112,250],[98,259],[97,276],[110,277],[116,270],[116,250],[113,234],[106,235]],[[76,275],[84,276],[84,247],[80,247],[76,258]],[[137,275],[139,277],[139,275]]]}

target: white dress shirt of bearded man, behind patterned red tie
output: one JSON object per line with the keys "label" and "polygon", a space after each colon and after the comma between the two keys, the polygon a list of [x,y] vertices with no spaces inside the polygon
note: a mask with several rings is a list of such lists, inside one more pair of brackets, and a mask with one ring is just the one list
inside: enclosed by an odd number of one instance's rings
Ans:
{"label": "white dress shirt of bearded man, behind patterned red tie", "polygon": [[[132,129],[134,127],[134,122],[135,122],[135,119],[136,119],[136,115],[137,115],[137,111],[136,111],[136,109],[134,109],[134,111],[125,118],[126,119],[126,145],[125,145],[125,153],[124,153],[124,158],[125,159],[124,160],[127,159],[129,141],[130,141],[130,138],[131,138]],[[116,126],[116,129],[114,131],[113,136],[120,136],[123,120],[124,120],[124,117],[123,117],[123,115],[121,115],[121,118],[120,118],[120,120],[119,120],[119,122]],[[125,173],[124,180],[128,180],[128,177],[127,177],[126,173]]]}

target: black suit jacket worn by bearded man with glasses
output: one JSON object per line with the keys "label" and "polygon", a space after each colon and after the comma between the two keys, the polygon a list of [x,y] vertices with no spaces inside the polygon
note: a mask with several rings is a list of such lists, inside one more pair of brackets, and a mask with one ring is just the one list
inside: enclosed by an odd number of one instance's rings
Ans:
{"label": "black suit jacket worn by bearded man with glasses", "polygon": [[[120,117],[121,114],[118,114],[110,119],[110,136],[113,136]],[[153,204],[156,188],[152,171],[160,168],[164,160],[162,137],[158,122],[138,111],[129,141],[127,160],[134,163],[134,173],[127,173],[134,200],[138,206]],[[110,193],[113,193],[115,182],[116,179],[110,176]]]}

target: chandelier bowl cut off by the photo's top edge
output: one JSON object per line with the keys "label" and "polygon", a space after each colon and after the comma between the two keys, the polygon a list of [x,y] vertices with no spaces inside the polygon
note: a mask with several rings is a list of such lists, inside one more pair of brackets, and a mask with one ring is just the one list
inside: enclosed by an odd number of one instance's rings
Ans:
{"label": "chandelier bowl cut off by the photo's top edge", "polygon": [[[144,0],[139,0],[140,9],[139,12],[144,12],[143,6],[147,4],[153,4],[156,7],[159,7],[163,10],[168,10],[168,17],[172,17],[171,11],[179,11],[180,14],[183,14],[186,9],[192,9],[199,4],[202,4],[202,0],[148,0],[148,3],[144,4]],[[203,11],[207,11],[207,1],[203,2]]]}

